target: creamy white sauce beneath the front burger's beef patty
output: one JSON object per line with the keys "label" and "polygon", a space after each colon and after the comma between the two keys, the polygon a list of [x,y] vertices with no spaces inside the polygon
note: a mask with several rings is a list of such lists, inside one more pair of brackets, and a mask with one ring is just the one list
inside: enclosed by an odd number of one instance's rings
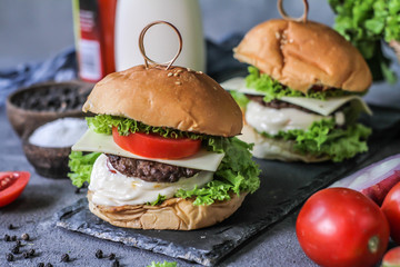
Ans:
{"label": "creamy white sauce beneath the front burger's beef patty", "polygon": [[177,182],[149,182],[122,175],[108,162],[107,156],[102,154],[93,165],[89,190],[92,191],[92,202],[96,205],[141,205],[156,201],[159,195],[168,199],[173,197],[179,189],[190,190],[196,186],[201,188],[211,181],[212,177],[212,171],[202,170],[193,177],[182,178]]}

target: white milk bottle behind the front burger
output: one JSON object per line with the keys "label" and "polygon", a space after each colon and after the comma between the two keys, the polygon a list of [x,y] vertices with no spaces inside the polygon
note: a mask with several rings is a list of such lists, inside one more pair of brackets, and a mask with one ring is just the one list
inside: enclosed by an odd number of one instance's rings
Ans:
{"label": "white milk bottle behind the front burger", "polygon": [[[174,24],[183,39],[176,66],[206,70],[206,46],[198,0],[118,0],[116,12],[117,71],[143,65],[138,48],[140,31],[150,22],[164,20]],[[177,33],[166,24],[149,29],[144,38],[146,53],[157,62],[169,61],[179,48]]]}

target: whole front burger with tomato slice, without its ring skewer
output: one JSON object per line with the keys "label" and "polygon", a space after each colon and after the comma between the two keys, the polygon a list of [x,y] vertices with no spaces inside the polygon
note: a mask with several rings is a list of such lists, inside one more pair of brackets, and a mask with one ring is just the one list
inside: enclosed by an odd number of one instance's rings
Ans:
{"label": "whole front burger with tomato slice, without its ring skewer", "polygon": [[[137,66],[98,82],[69,176],[112,225],[191,230],[232,215],[259,188],[241,110],[207,75]],[[91,154],[83,154],[90,151]]]}

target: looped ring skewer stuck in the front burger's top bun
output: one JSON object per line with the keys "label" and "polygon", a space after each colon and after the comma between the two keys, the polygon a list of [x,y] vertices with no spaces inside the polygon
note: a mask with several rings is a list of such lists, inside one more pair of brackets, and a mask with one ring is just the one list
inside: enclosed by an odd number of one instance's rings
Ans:
{"label": "looped ring skewer stuck in the front burger's top bun", "polygon": [[[159,63],[159,62],[156,62],[154,60],[150,59],[146,55],[146,50],[144,50],[144,44],[143,44],[144,34],[151,27],[153,27],[156,24],[167,24],[167,26],[171,27],[174,30],[174,32],[178,34],[178,39],[179,39],[179,48],[178,48],[177,55],[170,61],[167,61],[163,63]],[[150,62],[150,63],[154,65],[156,67],[166,67],[166,70],[168,70],[172,66],[172,63],[178,59],[179,55],[181,53],[182,44],[183,44],[182,36],[180,34],[177,27],[174,27],[172,23],[170,23],[168,21],[163,21],[163,20],[157,20],[157,21],[149,23],[148,26],[146,26],[142,29],[142,31],[140,32],[140,36],[139,36],[139,50],[144,58],[146,68],[149,68],[149,62]]]}

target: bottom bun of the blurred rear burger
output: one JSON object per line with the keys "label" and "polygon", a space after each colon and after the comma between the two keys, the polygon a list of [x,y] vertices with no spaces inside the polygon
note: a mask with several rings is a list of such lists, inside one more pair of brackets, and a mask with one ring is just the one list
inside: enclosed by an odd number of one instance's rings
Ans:
{"label": "bottom bun of the blurred rear burger", "polygon": [[304,162],[321,162],[330,160],[330,157],[317,157],[312,155],[302,155],[294,151],[294,141],[274,139],[261,136],[251,126],[244,125],[242,135],[239,139],[246,142],[254,144],[252,155],[261,159],[278,159],[282,161],[304,161]]}

